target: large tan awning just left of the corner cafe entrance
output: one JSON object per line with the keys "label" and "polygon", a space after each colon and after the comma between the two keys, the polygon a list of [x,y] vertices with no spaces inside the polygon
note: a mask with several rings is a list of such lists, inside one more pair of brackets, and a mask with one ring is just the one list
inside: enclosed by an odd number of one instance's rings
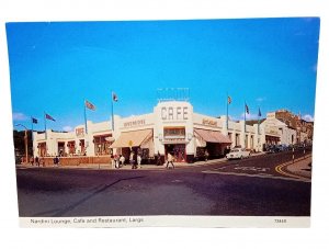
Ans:
{"label": "large tan awning just left of the corner cafe entrance", "polygon": [[120,137],[111,145],[111,148],[140,146],[144,143],[147,143],[151,136],[151,128],[122,133]]}

